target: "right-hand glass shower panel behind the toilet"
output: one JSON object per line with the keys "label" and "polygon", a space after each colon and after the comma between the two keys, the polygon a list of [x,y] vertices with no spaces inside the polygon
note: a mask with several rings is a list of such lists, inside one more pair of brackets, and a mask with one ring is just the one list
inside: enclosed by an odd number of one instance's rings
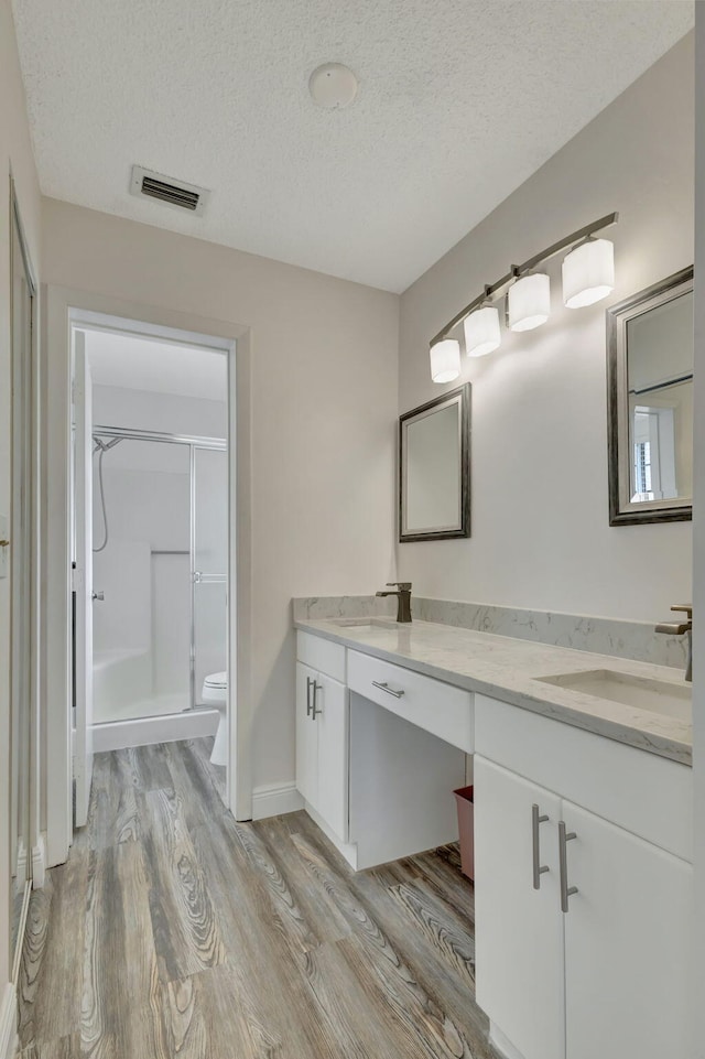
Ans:
{"label": "right-hand glass shower panel behind the toilet", "polygon": [[192,449],[192,702],[227,669],[228,453]]}

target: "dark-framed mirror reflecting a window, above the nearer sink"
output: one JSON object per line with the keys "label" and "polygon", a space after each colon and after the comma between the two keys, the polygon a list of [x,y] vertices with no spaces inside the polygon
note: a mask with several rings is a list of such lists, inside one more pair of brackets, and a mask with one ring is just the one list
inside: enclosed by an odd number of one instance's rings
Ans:
{"label": "dark-framed mirror reflecting a window, above the nearer sink", "polygon": [[607,310],[609,522],[692,518],[693,269]]}

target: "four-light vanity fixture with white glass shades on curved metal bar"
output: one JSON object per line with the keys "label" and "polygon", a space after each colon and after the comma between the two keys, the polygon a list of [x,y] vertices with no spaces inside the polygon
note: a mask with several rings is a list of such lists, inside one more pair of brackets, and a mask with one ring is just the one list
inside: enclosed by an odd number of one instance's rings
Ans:
{"label": "four-light vanity fixture with white glass shades on curved metal bar", "polygon": [[507,324],[511,331],[531,331],[545,323],[551,313],[551,281],[534,269],[549,258],[568,250],[563,261],[563,298],[570,309],[592,305],[615,288],[614,247],[608,239],[594,239],[604,228],[616,225],[619,214],[607,214],[578,228],[535,253],[523,264],[512,264],[507,275],[485,287],[481,294],[462,309],[431,339],[431,377],[434,382],[453,382],[460,374],[460,346],[451,333],[464,325],[468,357],[482,357],[501,343],[499,311],[491,304],[495,295],[507,292]]}

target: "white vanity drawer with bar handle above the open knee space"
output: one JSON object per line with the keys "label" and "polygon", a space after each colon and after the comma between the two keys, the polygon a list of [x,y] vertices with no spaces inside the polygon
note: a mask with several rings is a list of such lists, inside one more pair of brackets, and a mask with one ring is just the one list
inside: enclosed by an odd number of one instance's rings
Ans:
{"label": "white vanity drawer with bar handle above the open knee space", "polygon": [[348,651],[348,685],[391,713],[471,754],[473,695],[402,666]]}

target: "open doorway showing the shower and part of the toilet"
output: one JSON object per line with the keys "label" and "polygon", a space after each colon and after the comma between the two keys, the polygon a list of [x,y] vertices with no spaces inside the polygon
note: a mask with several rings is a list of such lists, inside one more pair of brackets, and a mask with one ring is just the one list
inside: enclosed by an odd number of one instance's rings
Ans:
{"label": "open doorway showing the shower and part of the toilet", "polygon": [[[93,755],[215,735],[229,754],[234,350],[72,321],[74,822]],[[227,789],[227,780],[225,784]]]}

